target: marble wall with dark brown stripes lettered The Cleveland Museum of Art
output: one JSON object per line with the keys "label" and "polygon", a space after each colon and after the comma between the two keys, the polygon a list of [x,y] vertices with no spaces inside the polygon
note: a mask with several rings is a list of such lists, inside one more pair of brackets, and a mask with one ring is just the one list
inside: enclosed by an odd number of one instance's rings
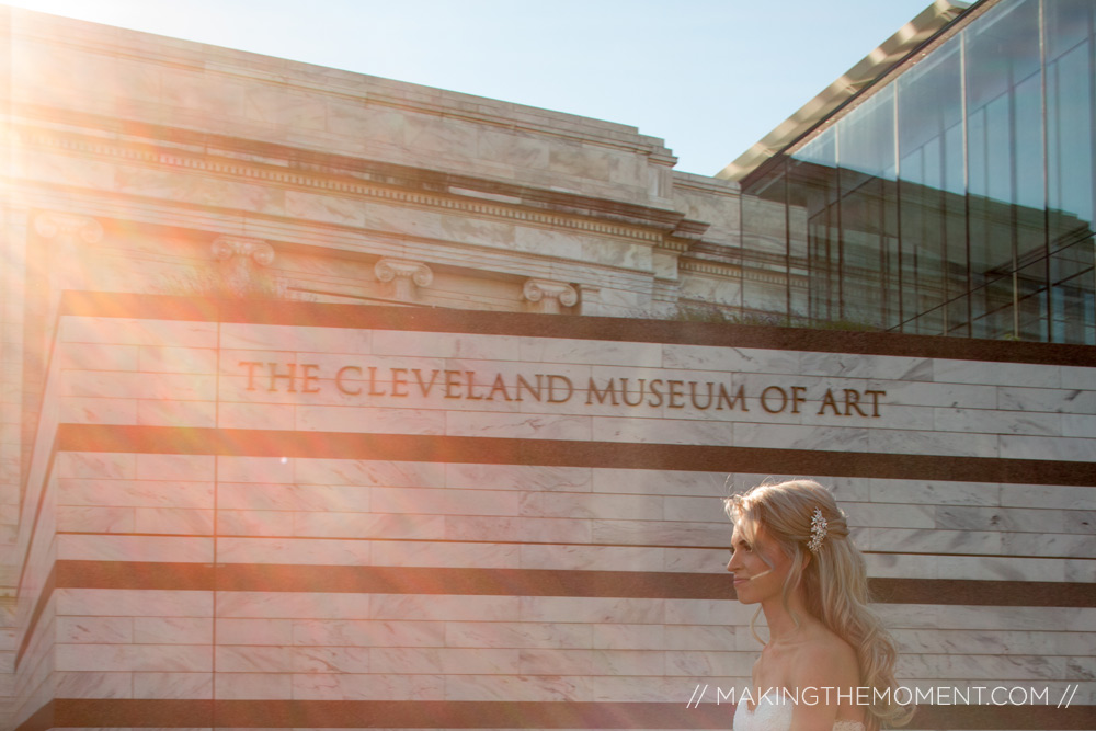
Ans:
{"label": "marble wall with dark brown stripes lettered The Cleveland Museum of Art", "polygon": [[905,685],[1057,699],[1039,637],[1094,630],[1081,561],[1039,558],[1092,556],[1083,355],[69,293],[23,502],[23,726],[728,728],[688,705],[757,648],[719,499],[789,475],[835,488],[926,648]]}

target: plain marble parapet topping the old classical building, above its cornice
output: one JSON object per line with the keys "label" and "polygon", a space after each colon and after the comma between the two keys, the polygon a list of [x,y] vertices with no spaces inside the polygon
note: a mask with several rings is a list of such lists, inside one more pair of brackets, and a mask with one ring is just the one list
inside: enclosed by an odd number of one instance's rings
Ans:
{"label": "plain marble parapet topping the old classical building, above its cornice", "polygon": [[[12,99],[172,133],[339,152],[670,207],[675,161],[635,127],[13,9]],[[4,19],[0,19],[2,22]]]}

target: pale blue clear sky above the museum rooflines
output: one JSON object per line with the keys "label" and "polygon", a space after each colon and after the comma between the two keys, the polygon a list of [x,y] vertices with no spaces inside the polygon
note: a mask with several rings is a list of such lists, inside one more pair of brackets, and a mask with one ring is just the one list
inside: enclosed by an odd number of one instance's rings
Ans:
{"label": "pale blue clear sky above the museum rooflines", "polygon": [[618,122],[715,175],[932,0],[0,0]]}

